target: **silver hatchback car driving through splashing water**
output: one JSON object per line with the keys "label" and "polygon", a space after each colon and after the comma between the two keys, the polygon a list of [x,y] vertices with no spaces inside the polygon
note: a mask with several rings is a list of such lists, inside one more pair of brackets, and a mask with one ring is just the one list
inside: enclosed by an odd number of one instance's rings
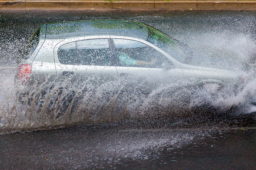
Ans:
{"label": "silver hatchback car driving through splashing water", "polygon": [[[17,84],[23,101],[31,86],[96,85],[128,79],[151,89],[182,80],[193,88],[224,86],[236,91],[244,78],[233,71],[191,65],[190,48],[146,24],[126,20],[47,23],[33,34],[18,60]],[[51,83],[49,83],[51,82]],[[71,85],[72,86],[72,85]]]}

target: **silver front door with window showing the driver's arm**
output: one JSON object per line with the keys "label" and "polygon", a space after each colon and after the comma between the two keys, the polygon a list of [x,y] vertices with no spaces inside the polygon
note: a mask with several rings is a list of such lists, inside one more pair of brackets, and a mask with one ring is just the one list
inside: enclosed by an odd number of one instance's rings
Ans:
{"label": "silver front door with window showing the driver's arm", "polygon": [[[118,51],[120,77],[130,81],[146,82],[152,88],[160,84],[173,83],[183,78],[180,63],[170,60],[154,45],[137,38],[112,36]],[[172,58],[171,58],[172,59]]]}

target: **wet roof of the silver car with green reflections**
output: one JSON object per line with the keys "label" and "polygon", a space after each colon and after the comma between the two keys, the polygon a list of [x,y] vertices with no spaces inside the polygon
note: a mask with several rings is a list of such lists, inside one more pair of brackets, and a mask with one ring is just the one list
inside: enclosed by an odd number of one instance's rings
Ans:
{"label": "wet roof of the silver car with green reflections", "polygon": [[[41,27],[45,27],[42,24]],[[47,23],[45,38],[71,38],[93,35],[122,35],[147,39],[145,24],[127,20],[84,20]]]}

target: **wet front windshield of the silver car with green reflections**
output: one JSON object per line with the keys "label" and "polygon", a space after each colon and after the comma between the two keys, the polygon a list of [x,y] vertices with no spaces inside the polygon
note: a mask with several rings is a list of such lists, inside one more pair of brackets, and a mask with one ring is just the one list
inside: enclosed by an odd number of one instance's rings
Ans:
{"label": "wet front windshield of the silver car with green reflections", "polygon": [[169,37],[168,35],[162,33],[161,31],[147,26],[148,29],[148,41],[152,44],[158,46],[162,50],[165,50],[169,53],[173,58],[182,62],[189,63],[188,61],[188,53],[186,49],[184,49],[184,45],[179,41]]}

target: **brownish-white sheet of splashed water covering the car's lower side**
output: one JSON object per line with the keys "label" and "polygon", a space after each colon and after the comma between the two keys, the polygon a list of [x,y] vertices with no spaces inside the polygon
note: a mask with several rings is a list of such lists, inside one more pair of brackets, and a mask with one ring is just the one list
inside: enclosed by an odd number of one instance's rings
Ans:
{"label": "brownish-white sheet of splashed water covering the car's lower side", "polygon": [[1,88],[2,133],[77,124],[119,123],[137,127],[179,124],[182,127],[190,120],[190,127],[193,127],[199,125],[198,120],[205,119],[211,124],[211,119],[225,117],[230,111],[235,112],[234,108],[236,112],[245,112],[241,105],[249,102],[246,100],[248,92],[256,90],[252,88],[255,80],[237,95],[225,88],[212,96],[208,90],[191,88],[188,82],[159,83],[151,89],[145,82],[138,83],[135,79],[118,79],[99,85],[95,84],[97,77],[92,76],[82,83],[66,80],[47,89],[44,84],[34,85],[24,93],[23,86],[14,86],[10,76],[14,73],[2,77],[2,82],[6,83]]}

